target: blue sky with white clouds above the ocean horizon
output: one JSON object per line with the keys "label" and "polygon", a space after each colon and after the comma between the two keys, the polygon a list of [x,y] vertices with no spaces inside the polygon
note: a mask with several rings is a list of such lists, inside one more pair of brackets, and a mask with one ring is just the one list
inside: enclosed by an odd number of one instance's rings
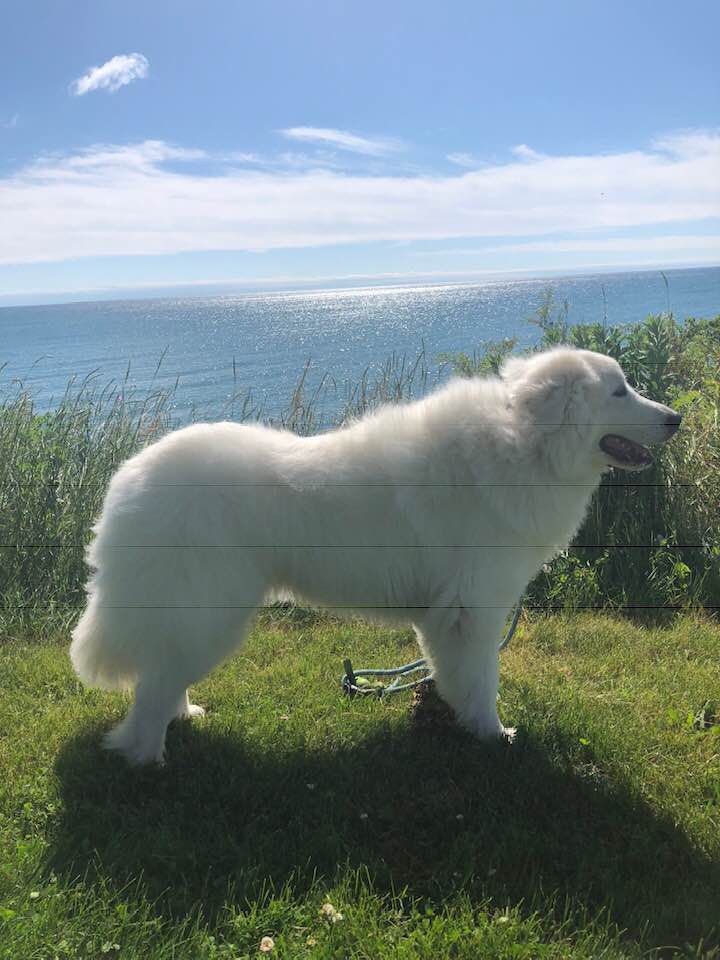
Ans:
{"label": "blue sky with white clouds above the ocean horizon", "polygon": [[720,263],[715,2],[40,0],[0,298]]}

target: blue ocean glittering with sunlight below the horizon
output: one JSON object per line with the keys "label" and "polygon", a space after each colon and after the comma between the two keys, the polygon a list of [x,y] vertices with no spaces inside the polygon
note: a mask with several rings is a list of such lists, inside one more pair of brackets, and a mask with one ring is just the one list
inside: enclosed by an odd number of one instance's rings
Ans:
{"label": "blue ocean glittering with sunlight below the horizon", "polygon": [[[421,349],[472,354],[484,343],[536,342],[529,323],[552,288],[571,323],[625,324],[667,309],[678,319],[720,313],[720,267],[476,284],[382,286],[238,296],[115,300],[0,308],[0,390],[27,387],[38,410],[71,377],[143,394],[174,388],[178,423],[229,418],[252,391],[272,415],[287,405],[309,362],[356,381],[391,355]],[[233,399],[235,398],[235,399]]]}

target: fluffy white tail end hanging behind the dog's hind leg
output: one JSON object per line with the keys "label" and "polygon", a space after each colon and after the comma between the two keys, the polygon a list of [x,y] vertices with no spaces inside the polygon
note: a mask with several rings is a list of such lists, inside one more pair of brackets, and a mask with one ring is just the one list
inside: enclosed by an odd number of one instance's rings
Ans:
{"label": "fluffy white tail end hanging behind the dog's hind leg", "polygon": [[[103,614],[95,596],[72,632],[70,659],[75,672],[88,686],[103,690],[127,690],[135,684],[137,672],[122,655],[120,637]],[[114,612],[114,611],[111,611]],[[117,625],[116,625],[117,626]]]}

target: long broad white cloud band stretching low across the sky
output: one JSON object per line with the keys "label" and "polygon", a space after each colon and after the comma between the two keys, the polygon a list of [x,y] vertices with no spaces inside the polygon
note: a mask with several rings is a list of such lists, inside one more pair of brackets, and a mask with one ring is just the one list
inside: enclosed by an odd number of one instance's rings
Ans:
{"label": "long broad white cloud band stretching low across the sky", "polygon": [[675,138],[672,150],[664,141],[442,176],[210,174],[207,161],[216,158],[202,150],[161,141],[98,146],[0,178],[0,263],[463,237],[519,243],[573,232],[587,239],[590,230],[720,217],[720,134],[683,136],[690,139]]}

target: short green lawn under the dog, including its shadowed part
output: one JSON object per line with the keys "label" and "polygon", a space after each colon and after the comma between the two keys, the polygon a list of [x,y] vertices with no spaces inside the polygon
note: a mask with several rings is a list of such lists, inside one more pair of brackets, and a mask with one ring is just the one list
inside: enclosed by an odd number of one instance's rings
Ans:
{"label": "short green lawn under the dog, including its shadowed part", "polygon": [[343,697],[409,633],[266,619],[141,771],[66,636],[2,643],[2,960],[720,956],[717,624],[522,624],[483,746]]}

